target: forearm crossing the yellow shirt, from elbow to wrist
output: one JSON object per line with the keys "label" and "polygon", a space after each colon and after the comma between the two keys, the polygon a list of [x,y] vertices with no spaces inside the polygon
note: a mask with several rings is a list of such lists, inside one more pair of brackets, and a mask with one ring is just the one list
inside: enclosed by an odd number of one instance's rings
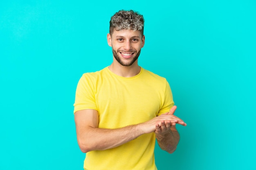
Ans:
{"label": "forearm crossing the yellow shirt, from elbow to wrist", "polygon": [[139,126],[130,125],[120,129],[87,127],[83,134],[78,135],[79,147],[85,153],[115,148],[142,135],[143,131]]}

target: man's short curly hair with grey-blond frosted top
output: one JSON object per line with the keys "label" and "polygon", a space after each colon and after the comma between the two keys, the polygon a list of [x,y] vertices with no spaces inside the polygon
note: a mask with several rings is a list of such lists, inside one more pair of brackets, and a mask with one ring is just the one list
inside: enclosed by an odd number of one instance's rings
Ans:
{"label": "man's short curly hair with grey-blond frosted top", "polygon": [[120,10],[115,13],[110,20],[109,33],[112,35],[114,29],[120,31],[122,29],[132,29],[139,31],[143,35],[144,31],[144,18],[143,15],[135,11]]}

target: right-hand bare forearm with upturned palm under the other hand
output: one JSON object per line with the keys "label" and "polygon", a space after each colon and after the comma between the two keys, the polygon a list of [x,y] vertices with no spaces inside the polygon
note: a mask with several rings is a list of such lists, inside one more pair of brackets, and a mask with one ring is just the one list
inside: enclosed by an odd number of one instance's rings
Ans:
{"label": "right-hand bare forearm with upturned palm under the other hand", "polygon": [[[173,115],[176,106],[173,106],[168,115]],[[173,120],[162,121],[161,124],[156,124],[156,138],[157,142],[162,150],[166,150],[168,153],[173,153],[180,141],[180,134],[178,133],[175,125],[181,124],[186,126],[180,118],[173,115]]]}

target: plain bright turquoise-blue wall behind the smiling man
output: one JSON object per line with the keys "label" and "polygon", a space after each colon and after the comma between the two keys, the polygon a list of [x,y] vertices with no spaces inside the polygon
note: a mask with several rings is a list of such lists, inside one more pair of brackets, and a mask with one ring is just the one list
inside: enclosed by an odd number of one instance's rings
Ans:
{"label": "plain bright turquoise-blue wall behind the smiling man", "polygon": [[76,85],[112,62],[120,9],[144,15],[139,65],[167,78],[188,124],[175,153],[156,146],[158,169],[256,169],[255,0],[1,1],[0,169],[83,169]]}

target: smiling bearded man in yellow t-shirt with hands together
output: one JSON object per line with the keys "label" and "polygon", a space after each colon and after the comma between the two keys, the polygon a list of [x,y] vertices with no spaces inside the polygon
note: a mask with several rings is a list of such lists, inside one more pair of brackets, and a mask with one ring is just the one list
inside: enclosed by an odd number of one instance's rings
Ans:
{"label": "smiling bearded man in yellow t-shirt with hands together", "polygon": [[[156,170],[155,138],[173,153],[180,139],[170,86],[138,65],[145,43],[144,18],[134,11],[111,17],[113,62],[79,80],[74,117],[85,170]],[[104,53],[103,53],[104,54]]]}

